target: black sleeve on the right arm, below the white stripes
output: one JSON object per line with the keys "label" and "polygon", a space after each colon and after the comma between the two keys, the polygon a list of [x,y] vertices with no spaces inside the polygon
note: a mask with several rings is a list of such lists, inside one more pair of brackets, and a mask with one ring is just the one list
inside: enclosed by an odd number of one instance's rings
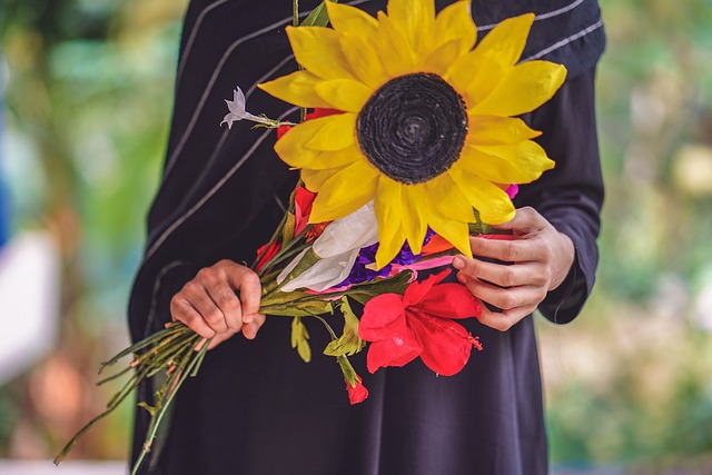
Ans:
{"label": "black sleeve on the right arm, below the white stripes", "polygon": [[526,117],[543,132],[540,144],[556,162],[537,181],[524,186],[515,205],[532,206],[575,247],[564,281],[538,306],[551,321],[573,320],[586,301],[599,263],[603,178],[599,160],[594,103],[595,68],[566,81],[556,96]]}

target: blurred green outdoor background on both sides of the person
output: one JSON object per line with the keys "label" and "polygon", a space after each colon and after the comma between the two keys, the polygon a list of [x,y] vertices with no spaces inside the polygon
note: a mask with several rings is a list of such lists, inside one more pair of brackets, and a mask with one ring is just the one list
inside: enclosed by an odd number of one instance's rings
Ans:
{"label": "blurred green outdoor background on both sides of the person", "polygon": [[[97,363],[127,343],[186,3],[0,0],[11,232],[49,232],[61,271],[59,338],[0,383],[0,458],[51,457],[116,389]],[[578,319],[538,319],[552,462],[710,474],[712,1],[601,4],[602,261]],[[125,458],[129,414],[72,457]]]}

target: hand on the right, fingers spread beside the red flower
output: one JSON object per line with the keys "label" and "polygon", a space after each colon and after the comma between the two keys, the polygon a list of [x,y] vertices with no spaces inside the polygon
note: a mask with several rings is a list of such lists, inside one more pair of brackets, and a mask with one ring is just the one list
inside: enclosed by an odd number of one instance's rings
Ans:
{"label": "hand on the right, fingers spread beside the red flower", "polygon": [[469,246],[474,256],[502,263],[461,255],[453,259],[453,266],[459,269],[457,279],[475,297],[502,309],[492,311],[483,306],[479,321],[505,331],[561,285],[573,265],[574,245],[530,207],[517,209],[514,219],[497,228],[510,229],[513,236],[472,236]]}

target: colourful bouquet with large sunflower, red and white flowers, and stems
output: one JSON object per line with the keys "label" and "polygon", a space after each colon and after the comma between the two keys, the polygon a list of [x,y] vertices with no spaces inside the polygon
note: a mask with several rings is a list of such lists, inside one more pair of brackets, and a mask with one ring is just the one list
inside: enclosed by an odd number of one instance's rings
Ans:
{"label": "colourful bouquet with large sunflower, red and white flowers, and stems", "polygon": [[[366,346],[372,373],[419,356],[445,376],[465,366],[473,347],[482,349],[455,321],[477,317],[479,301],[464,286],[443,283],[447,269],[421,280],[418,273],[446,268],[459,253],[471,256],[469,235],[497,232],[492,226],[514,217],[517,184],[554,166],[532,140],[540,132],[515,117],[548,100],[566,75],[547,61],[518,63],[533,20],[507,19],[473,49],[477,29],[467,0],[438,14],[433,0],[390,0],[377,18],[327,1],[287,28],[301,68],[259,86],[303,108],[303,120],[247,112],[239,88],[227,101],[224,123],[276,128],[277,155],[300,171],[281,224],[251,266],[263,284],[260,313],[293,318],[291,345],[306,362],[303,319],[320,320],[332,336],[323,352],[340,366],[352,404],[368,392],[348,357]],[[362,315],[353,301],[363,305]],[[345,319],[342,335],[328,321],[336,309]],[[134,369],[97,419],[145,378],[164,380],[154,405],[139,402],[151,425],[134,472],[206,348],[172,323],[102,364],[134,355],[105,379]]]}

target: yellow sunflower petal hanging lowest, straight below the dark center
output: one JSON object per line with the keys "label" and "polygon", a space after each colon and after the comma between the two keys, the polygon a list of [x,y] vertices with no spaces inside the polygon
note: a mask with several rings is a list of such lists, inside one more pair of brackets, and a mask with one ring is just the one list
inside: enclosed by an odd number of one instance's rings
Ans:
{"label": "yellow sunflower petal hanging lowest, straight below the dark center", "polygon": [[386,266],[398,255],[405,243],[405,232],[400,226],[404,217],[403,185],[382,175],[378,177],[378,189],[374,200],[374,212],[378,221],[378,250],[376,267]]}

